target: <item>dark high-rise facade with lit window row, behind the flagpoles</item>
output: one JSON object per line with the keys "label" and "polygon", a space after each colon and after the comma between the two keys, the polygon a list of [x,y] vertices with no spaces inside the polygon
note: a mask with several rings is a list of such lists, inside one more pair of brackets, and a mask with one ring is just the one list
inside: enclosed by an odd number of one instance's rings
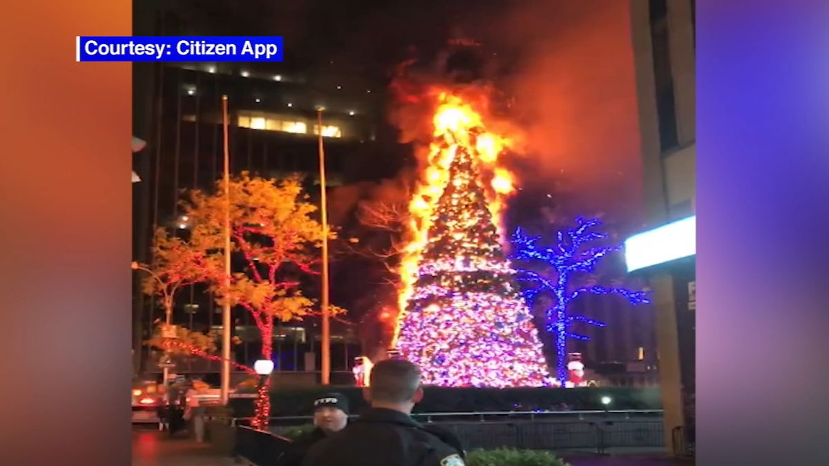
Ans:
{"label": "dark high-rise facade with lit window row, behind the flagpoles", "polygon": [[[179,4],[176,4],[179,3]],[[211,26],[182,7],[186,2],[136,7],[136,34],[186,35]],[[195,20],[193,18],[196,18]],[[192,21],[200,22],[196,25]],[[201,28],[201,29],[200,29]],[[148,263],[156,227],[187,230],[179,201],[191,189],[211,191],[222,174],[222,96],[229,102],[230,172],[263,177],[298,174],[309,201],[319,201],[318,134],[325,141],[327,186],[393,176],[400,157],[380,157],[378,124],[382,90],[355,84],[333,66],[303,69],[290,64],[167,63],[136,64],[133,70],[133,129],[147,141],[141,157],[133,157],[142,182],[133,185],[133,257]],[[322,127],[318,109],[322,111]],[[158,352],[143,345],[163,311],[140,291],[136,277],[133,299],[133,366],[136,372],[158,373]],[[314,296],[316,289],[306,289]],[[233,311],[236,361],[252,366],[259,356],[259,335],[250,315]],[[172,322],[196,331],[221,331],[221,308],[205,287],[183,289]],[[274,328],[274,371],[313,372],[320,367],[318,323],[284,323]],[[352,329],[332,324],[332,371],[351,380],[353,357],[360,351]],[[180,358],[186,373],[217,374],[219,365]],[[332,376],[337,381],[337,376]]]}

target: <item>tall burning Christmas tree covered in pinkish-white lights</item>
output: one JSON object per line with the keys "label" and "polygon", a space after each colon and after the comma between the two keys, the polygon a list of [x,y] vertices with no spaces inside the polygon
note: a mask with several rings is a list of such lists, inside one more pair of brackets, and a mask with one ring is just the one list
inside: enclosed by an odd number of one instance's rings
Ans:
{"label": "tall burning Christmas tree covered in pinkish-white lights", "polygon": [[494,163],[507,140],[487,133],[457,96],[440,99],[426,183],[410,206],[416,235],[401,270],[396,346],[426,384],[549,385],[497,227],[497,194],[511,191],[511,181]]}

